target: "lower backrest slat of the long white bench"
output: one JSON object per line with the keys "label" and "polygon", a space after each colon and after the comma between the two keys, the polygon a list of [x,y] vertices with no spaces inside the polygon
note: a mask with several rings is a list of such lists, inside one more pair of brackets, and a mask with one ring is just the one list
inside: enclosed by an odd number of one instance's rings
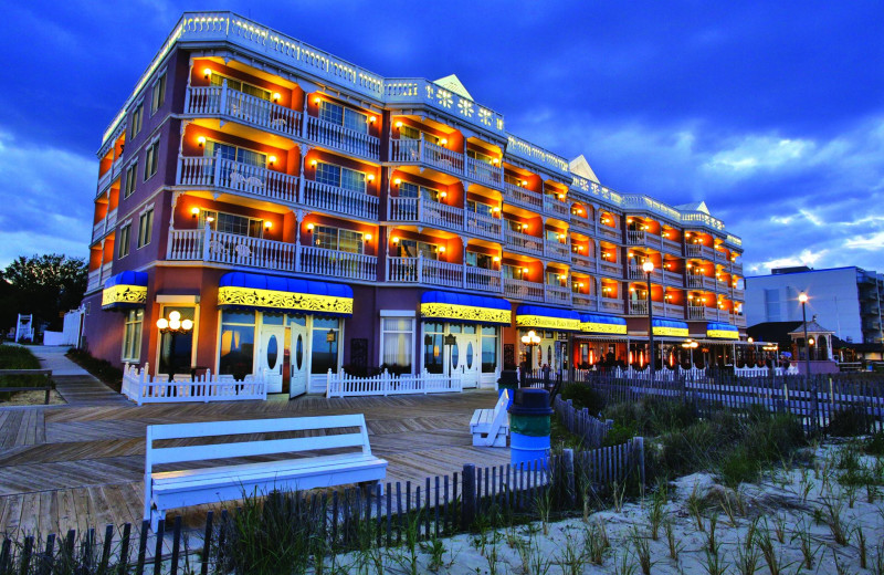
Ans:
{"label": "lower backrest slat of the long white bench", "polygon": [[[240,431],[236,430],[239,433]],[[230,429],[228,429],[230,433]],[[239,443],[218,443],[213,446],[187,446],[154,448],[150,450],[151,467],[160,463],[182,461],[207,461],[248,456],[269,456],[272,453],[294,453],[344,447],[364,448],[362,433],[339,436],[298,437],[292,439],[270,439],[265,441],[242,441]]]}

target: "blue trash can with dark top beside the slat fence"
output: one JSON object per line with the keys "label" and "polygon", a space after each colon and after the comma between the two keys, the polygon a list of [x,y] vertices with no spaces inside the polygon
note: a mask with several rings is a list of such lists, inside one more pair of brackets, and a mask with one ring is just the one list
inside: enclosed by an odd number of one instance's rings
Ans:
{"label": "blue trash can with dark top beside the slat fence", "polygon": [[533,467],[538,461],[546,469],[549,457],[550,416],[549,391],[516,389],[509,407],[509,460],[513,467]]}

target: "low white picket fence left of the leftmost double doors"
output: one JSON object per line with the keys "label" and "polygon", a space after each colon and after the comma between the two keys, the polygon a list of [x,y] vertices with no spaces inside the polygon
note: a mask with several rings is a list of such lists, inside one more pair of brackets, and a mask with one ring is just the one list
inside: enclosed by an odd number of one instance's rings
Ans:
{"label": "low white picket fence left of the leftmost double doors", "polygon": [[267,385],[262,375],[246,375],[242,381],[232,375],[206,375],[191,378],[179,374],[169,381],[168,375],[148,375],[148,365],[144,369],[126,366],[123,369],[123,395],[138,405],[176,404],[183,401],[233,401],[242,399],[266,399]]}

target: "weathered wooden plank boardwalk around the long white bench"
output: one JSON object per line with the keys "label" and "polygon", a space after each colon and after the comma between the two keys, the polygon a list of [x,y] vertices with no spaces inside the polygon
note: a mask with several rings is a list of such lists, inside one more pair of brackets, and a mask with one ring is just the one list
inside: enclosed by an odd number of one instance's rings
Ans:
{"label": "weathered wooden plank boardwalk around the long white bench", "polygon": [[[67,397],[76,399],[67,406],[0,409],[0,530],[45,534],[140,522],[145,428],[154,424],[361,412],[393,482],[509,461],[509,449],[473,447],[469,432],[473,410],[492,407],[496,391],[137,407],[85,384],[70,386]],[[187,510],[186,522],[199,524],[207,509]]]}

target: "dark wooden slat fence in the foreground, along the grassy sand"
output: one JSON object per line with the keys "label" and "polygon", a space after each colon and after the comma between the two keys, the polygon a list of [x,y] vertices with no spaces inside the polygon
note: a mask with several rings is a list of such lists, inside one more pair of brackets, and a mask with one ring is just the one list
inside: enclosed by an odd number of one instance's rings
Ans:
{"label": "dark wooden slat fence in the foreground, along the grassy sand", "polygon": [[[387,482],[373,489],[348,488],[309,496],[288,494],[306,511],[313,527],[322,530],[335,550],[346,551],[365,541],[366,529],[378,546],[397,545],[417,521],[418,536],[425,541],[471,527],[482,516],[498,512],[529,513],[541,494],[555,490],[558,509],[576,510],[577,494],[587,485],[596,492],[628,481],[644,482],[644,441],[581,451],[565,450],[533,464],[477,468],[465,464],[452,475],[427,478],[423,483]],[[234,512],[235,513],[235,512]],[[64,537],[50,534],[38,541],[33,534],[7,534],[0,544],[0,575],[65,573],[88,575],[146,573],[219,573],[214,557],[225,548],[233,513],[209,511],[197,531],[186,530],[182,518],[170,525],[160,521],[156,532],[149,521],[139,526],[107,525],[104,537],[96,531],[71,530]],[[360,540],[361,537],[361,540]]]}

